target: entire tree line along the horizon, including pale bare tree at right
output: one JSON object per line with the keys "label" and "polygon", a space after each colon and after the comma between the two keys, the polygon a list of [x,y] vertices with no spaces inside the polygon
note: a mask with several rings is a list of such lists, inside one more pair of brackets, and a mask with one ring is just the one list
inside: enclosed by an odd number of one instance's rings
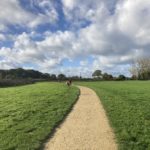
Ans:
{"label": "entire tree line along the horizon, including pale bare tree at right", "polygon": [[[49,73],[42,73],[37,70],[33,69],[9,69],[9,70],[0,70],[0,85],[4,84],[4,80],[9,82],[14,82],[13,84],[21,84],[23,83],[30,83],[33,81],[42,81],[42,80],[49,80],[49,81],[65,81],[69,78],[72,80],[84,80],[84,81],[93,81],[93,80],[150,80],[150,58],[139,58],[134,60],[129,69],[131,73],[131,77],[126,77],[125,75],[121,74],[118,77],[114,77],[111,74],[103,73],[101,70],[95,70],[92,74],[93,78],[82,78],[80,76],[72,76],[67,77],[65,74],[49,74]],[[25,81],[26,80],[26,81]],[[27,81],[28,80],[28,81]],[[2,82],[3,81],[3,82]]]}

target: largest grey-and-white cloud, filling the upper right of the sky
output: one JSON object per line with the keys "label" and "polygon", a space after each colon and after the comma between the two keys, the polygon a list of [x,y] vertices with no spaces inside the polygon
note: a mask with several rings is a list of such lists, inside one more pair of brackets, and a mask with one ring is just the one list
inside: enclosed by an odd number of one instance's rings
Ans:
{"label": "largest grey-and-white cloud, filling the upper right of the sky", "polygon": [[125,67],[136,57],[150,56],[150,2],[109,2],[63,1],[67,18],[91,22],[80,29],[78,45],[82,52],[96,56],[93,67]]}

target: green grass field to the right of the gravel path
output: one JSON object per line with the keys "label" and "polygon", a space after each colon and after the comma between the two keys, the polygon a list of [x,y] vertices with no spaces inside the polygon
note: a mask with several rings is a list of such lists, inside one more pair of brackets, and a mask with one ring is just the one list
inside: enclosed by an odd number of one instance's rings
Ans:
{"label": "green grass field to the right of the gravel path", "polygon": [[94,89],[120,150],[150,150],[150,82],[80,82]]}

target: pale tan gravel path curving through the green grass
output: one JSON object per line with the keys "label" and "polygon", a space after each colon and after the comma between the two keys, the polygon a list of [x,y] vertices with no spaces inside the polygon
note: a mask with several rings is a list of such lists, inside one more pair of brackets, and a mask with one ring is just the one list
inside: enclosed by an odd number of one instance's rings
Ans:
{"label": "pale tan gravel path curving through the green grass", "polygon": [[112,129],[95,92],[79,86],[81,95],[45,150],[117,150]]}

